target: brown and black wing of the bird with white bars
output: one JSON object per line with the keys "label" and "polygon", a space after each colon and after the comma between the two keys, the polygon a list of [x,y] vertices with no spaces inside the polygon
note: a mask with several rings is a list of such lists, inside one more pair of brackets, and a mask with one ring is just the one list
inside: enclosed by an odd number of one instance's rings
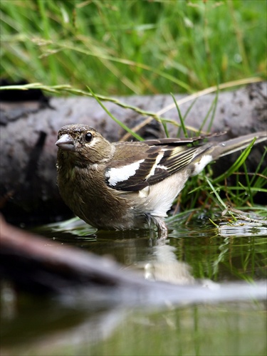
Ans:
{"label": "brown and black wing of the bird with white bars", "polygon": [[122,191],[144,189],[186,167],[205,150],[205,146],[203,150],[188,147],[190,141],[172,141],[166,145],[166,140],[169,139],[115,144],[115,155],[105,170],[108,186]]}

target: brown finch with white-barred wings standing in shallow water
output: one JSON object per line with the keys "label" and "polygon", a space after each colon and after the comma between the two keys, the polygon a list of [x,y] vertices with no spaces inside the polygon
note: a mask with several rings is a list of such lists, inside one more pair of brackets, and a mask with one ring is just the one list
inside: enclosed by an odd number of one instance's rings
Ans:
{"label": "brown finch with white-barred wings standing in shallow water", "polygon": [[65,125],[56,141],[59,193],[75,215],[97,229],[155,225],[165,238],[164,218],[189,177],[209,162],[244,149],[254,138],[263,142],[266,132],[224,142],[204,138],[111,143],[88,125]]}

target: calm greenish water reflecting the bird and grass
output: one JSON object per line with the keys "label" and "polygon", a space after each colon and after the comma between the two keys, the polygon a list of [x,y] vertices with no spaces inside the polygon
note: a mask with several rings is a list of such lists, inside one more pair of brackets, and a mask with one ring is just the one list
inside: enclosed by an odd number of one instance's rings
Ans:
{"label": "calm greenish water reflecting the bird and grass", "polygon": [[185,224],[187,218],[170,219],[166,241],[157,240],[156,231],[95,233],[76,220],[42,226],[38,234],[111,256],[152,281],[190,285],[195,293],[231,282],[227,302],[181,304],[177,295],[177,303],[165,305],[93,305],[86,295],[20,295],[12,303],[12,288],[5,286],[11,296],[1,313],[1,355],[266,355],[266,300],[236,300],[241,282],[266,281],[266,224],[229,226],[225,219],[215,225],[205,216]]}

